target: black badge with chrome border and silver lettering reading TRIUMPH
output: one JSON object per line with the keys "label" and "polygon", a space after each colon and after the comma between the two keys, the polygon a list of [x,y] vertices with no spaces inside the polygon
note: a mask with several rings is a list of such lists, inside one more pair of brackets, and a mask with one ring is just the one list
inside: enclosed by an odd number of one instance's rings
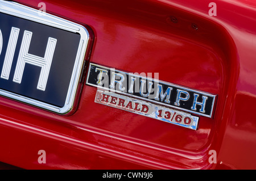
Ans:
{"label": "black badge with chrome border and silver lettering reading TRIUMPH", "polygon": [[89,65],[86,84],[205,117],[213,117],[217,97],[93,63]]}

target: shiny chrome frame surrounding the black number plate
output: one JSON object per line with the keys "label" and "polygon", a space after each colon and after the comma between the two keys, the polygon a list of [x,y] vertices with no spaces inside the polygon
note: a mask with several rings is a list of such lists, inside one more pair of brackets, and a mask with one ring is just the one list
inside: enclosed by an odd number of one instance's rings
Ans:
{"label": "shiny chrome frame surrounding the black number plate", "polygon": [[[61,107],[56,106],[51,103],[43,102],[42,100],[36,100],[33,98],[29,98],[27,96],[16,94],[15,92],[11,92],[10,90],[7,91],[7,90],[0,89],[0,95],[2,96],[5,96],[10,99],[18,100],[19,102],[30,104],[35,107],[43,108],[44,110],[48,110],[48,111],[59,113],[59,114],[66,114],[69,111],[71,111],[74,106],[75,96],[77,92],[77,87],[79,86],[80,76],[81,76],[82,70],[84,69],[84,58],[85,58],[86,50],[88,49],[88,44],[89,44],[88,42],[90,39],[88,30],[84,26],[81,26],[80,24],[70,22],[68,20],[59,18],[57,16],[54,16],[48,13],[44,13],[40,15],[41,13],[40,11],[36,9],[32,9],[27,6],[20,5],[19,3],[15,3],[15,2],[7,2],[7,1],[1,0],[0,12],[2,12],[3,14],[17,17],[17,18],[29,20],[31,22],[40,23],[48,27],[57,28],[57,29],[60,29],[61,31],[63,30],[63,31],[76,33],[77,35],[80,35],[80,40],[77,40],[79,44],[77,45],[78,47],[77,53],[75,53],[75,56],[74,56],[75,59],[73,60],[75,63],[73,64],[73,67],[71,69],[72,74],[71,74],[70,82],[69,82],[69,85],[67,84],[68,85],[67,95],[65,95],[64,97],[65,99],[63,101],[64,106],[61,106]],[[15,32],[15,28],[14,28],[14,32]],[[24,35],[25,33],[26,31],[24,32]],[[20,32],[19,36],[22,36],[22,34],[23,32]],[[28,34],[29,32],[27,32],[27,35]],[[56,44],[55,39],[52,39],[51,41],[52,43],[50,44],[51,46],[49,46],[50,47],[49,49],[54,47]],[[3,56],[4,55],[5,54],[3,54]],[[39,61],[41,61],[40,57],[38,59]],[[3,77],[4,76],[5,75],[3,75]],[[20,81],[19,79],[16,79],[16,82],[20,83],[19,81]],[[13,82],[15,82],[15,80]],[[41,89],[42,91],[44,91],[44,89],[46,89],[45,82],[47,82],[47,78],[43,77],[42,82],[44,83],[42,83],[42,85],[38,85],[38,90]]]}

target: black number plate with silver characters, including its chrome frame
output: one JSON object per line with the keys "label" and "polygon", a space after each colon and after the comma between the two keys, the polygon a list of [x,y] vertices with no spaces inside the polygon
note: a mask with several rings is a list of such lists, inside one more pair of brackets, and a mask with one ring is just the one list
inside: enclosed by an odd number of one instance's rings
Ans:
{"label": "black number plate with silver characters, including its chrome frame", "polygon": [[88,28],[0,2],[0,95],[65,114],[80,89]]}

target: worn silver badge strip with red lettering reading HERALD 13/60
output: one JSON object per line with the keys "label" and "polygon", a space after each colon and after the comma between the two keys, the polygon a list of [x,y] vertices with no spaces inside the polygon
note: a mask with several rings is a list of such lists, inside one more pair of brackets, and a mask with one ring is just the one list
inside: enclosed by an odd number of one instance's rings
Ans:
{"label": "worn silver badge strip with red lettering reading HERALD 13/60", "polygon": [[193,130],[197,129],[199,121],[199,117],[190,113],[109,91],[97,90],[95,102]]}

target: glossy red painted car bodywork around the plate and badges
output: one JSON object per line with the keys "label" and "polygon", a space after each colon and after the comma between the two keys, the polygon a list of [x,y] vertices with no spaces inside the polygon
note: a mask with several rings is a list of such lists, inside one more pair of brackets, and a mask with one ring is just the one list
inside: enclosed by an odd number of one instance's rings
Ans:
{"label": "glossy red painted car bodywork around the plate and badges", "polygon": [[[18,1],[38,9],[42,1]],[[24,169],[256,169],[253,1],[43,1],[90,26],[89,61],[217,94],[197,131],[94,103],[60,116],[0,98],[0,161]],[[177,23],[171,21],[177,19]],[[192,28],[196,24],[198,30]],[[45,150],[47,163],[38,163]],[[216,150],[217,163],[209,163]]]}

